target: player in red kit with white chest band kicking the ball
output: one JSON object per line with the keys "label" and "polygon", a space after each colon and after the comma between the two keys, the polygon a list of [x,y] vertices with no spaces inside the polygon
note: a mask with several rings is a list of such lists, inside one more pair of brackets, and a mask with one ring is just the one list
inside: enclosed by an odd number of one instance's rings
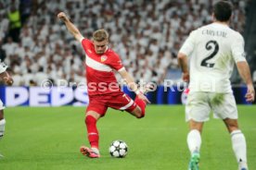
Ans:
{"label": "player in red kit with white chest band kicking the ball", "polygon": [[[90,158],[98,158],[100,157],[98,150],[99,135],[96,122],[106,114],[108,107],[125,110],[131,115],[141,118],[145,115],[146,104],[149,101],[122,66],[119,55],[109,49],[109,33],[106,30],[96,30],[93,34],[93,41],[91,41],[83,37],[65,13],[60,12],[58,18],[64,21],[70,33],[83,45],[90,101],[85,114],[85,125],[91,148],[82,146],[80,151]],[[113,70],[117,70],[122,79],[125,79],[129,88],[136,93],[134,101],[121,91]]]}

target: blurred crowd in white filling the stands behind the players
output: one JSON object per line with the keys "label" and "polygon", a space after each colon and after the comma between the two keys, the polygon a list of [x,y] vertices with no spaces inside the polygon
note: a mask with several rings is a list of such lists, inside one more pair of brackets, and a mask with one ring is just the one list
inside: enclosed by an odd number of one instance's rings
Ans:
{"label": "blurred crowd in white filling the stands behind the players", "polygon": [[[246,1],[233,1],[231,27],[243,32]],[[177,69],[176,55],[191,30],[211,23],[213,0],[10,0],[0,1],[0,56],[14,85],[44,79],[85,82],[82,45],[58,20],[59,11],[90,38],[109,31],[109,47],[134,76],[162,83]]]}

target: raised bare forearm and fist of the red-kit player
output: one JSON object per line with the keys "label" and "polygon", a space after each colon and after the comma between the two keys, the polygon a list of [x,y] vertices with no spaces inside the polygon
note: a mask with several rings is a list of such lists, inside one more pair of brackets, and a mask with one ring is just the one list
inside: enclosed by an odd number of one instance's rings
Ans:
{"label": "raised bare forearm and fist of the red-kit player", "polygon": [[74,38],[77,41],[82,42],[83,35],[76,28],[76,26],[72,22],[70,22],[70,19],[66,16],[66,14],[64,12],[60,12],[60,13],[58,13],[58,18],[63,20],[63,22],[66,24],[66,27],[68,28],[70,33],[74,36]]}

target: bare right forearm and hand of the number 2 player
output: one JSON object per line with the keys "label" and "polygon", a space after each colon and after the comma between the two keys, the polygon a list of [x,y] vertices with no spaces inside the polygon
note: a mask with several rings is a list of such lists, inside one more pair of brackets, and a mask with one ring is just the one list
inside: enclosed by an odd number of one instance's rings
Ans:
{"label": "bare right forearm and hand of the number 2 player", "polygon": [[248,66],[247,61],[237,62],[237,69],[239,71],[240,76],[247,84],[247,93],[246,93],[246,100],[247,102],[253,102],[255,99],[255,91],[252,84],[251,76],[250,76],[250,68]]}

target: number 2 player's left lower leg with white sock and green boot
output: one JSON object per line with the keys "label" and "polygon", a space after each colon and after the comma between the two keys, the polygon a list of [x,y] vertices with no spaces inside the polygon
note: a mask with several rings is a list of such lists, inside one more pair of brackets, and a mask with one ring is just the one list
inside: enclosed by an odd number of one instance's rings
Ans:
{"label": "number 2 player's left lower leg with white sock and green boot", "polygon": [[198,164],[200,159],[200,146],[201,135],[203,128],[203,122],[197,122],[193,119],[189,120],[189,133],[187,134],[187,145],[191,153],[190,162],[188,164],[188,170],[198,170]]}

